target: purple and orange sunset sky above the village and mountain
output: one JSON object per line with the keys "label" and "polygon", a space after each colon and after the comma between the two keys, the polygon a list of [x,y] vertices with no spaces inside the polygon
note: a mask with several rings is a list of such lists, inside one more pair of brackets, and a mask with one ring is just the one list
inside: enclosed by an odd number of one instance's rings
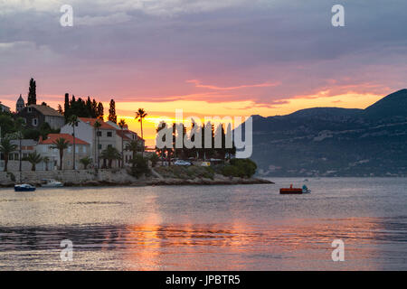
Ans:
{"label": "purple and orange sunset sky above the village and mountain", "polygon": [[[345,27],[331,8],[345,6]],[[73,27],[60,7],[73,7]],[[283,115],[364,108],[406,88],[407,2],[315,0],[0,0],[0,100],[29,79],[52,107],[65,92],[117,103],[118,118]]]}

